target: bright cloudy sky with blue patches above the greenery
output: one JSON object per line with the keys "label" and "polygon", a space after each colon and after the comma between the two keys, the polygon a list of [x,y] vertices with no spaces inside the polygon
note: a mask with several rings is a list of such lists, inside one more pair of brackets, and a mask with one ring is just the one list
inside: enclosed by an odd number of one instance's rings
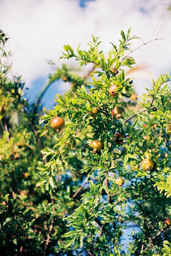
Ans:
{"label": "bright cloudy sky with blue patches above the greenery", "polygon": [[[33,99],[48,81],[53,70],[49,59],[60,67],[63,47],[86,49],[92,34],[102,41],[107,54],[110,43],[118,45],[121,29],[142,39],[133,42],[137,65],[147,70],[134,74],[135,89],[140,95],[151,86],[151,79],[171,70],[171,0],[0,0],[0,29],[9,37],[7,51],[13,53],[13,74],[21,75],[28,97]],[[44,104],[52,108],[54,95],[63,93],[68,83],[58,81],[46,92]]]}

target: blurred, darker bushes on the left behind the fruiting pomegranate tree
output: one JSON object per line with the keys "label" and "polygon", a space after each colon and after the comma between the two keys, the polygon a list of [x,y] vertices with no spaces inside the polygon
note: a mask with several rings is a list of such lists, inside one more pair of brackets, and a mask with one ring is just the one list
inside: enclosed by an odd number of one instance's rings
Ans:
{"label": "blurred, darker bushes on the left behind the fruiting pomegranate tree", "polygon": [[29,103],[21,77],[9,79],[7,39],[0,31],[0,255],[55,254],[58,237],[66,231],[65,216],[75,202],[62,185],[54,198],[36,188],[42,175],[36,167],[46,163],[40,148],[49,145],[47,138],[40,140],[35,126],[44,94]]}

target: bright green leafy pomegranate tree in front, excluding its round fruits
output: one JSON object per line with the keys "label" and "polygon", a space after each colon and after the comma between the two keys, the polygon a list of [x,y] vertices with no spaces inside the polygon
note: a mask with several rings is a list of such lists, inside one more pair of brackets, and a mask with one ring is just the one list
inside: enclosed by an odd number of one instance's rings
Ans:
{"label": "bright green leafy pomegranate tree in front, excluding its round fruits", "polygon": [[[53,147],[42,150],[48,162],[37,167],[43,174],[37,186],[53,194],[68,174],[73,180],[79,178],[75,186],[66,185],[79,200],[79,207],[66,218],[68,232],[59,242],[66,254],[70,248],[76,255],[153,255],[161,248],[164,252],[170,243],[171,231],[163,224],[165,218],[171,218],[171,144],[165,131],[171,124],[170,76],[163,74],[153,81],[141,101],[130,99],[134,88],[132,81],[125,79],[123,67],[135,64],[129,56],[130,41],[135,38],[130,37],[130,30],[126,36],[121,31],[119,46],[112,44],[107,58],[94,36],[88,51],[79,46],[75,54],[70,45],[64,46],[66,53],[61,58],[75,58],[80,66],[93,63],[91,81],[64,97],[57,94],[56,106],[44,109],[39,120],[40,136],[55,137],[55,141]],[[112,84],[118,85],[117,97],[108,92]],[[112,117],[113,108],[122,110],[120,119]],[[96,118],[91,115],[94,109],[99,112]],[[50,125],[56,116],[65,119],[59,134]],[[123,135],[122,144],[114,140],[116,132]],[[74,140],[77,144],[73,147]],[[103,144],[96,153],[91,148],[94,140]],[[140,166],[145,158],[152,159],[152,170]],[[118,176],[123,177],[123,186],[116,185]],[[124,252],[123,229],[129,222],[139,231],[132,232],[133,242]]]}

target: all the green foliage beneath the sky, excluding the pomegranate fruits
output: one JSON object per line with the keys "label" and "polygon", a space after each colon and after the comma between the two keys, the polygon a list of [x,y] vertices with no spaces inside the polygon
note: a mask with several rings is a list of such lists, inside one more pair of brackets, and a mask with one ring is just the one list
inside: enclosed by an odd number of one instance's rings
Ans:
{"label": "all the green foliage beneath the sky, excluding the pomegranate fruits", "polygon": [[[130,32],[121,31],[107,57],[94,36],[87,51],[79,45],[75,53],[65,45],[61,59],[75,58],[79,67],[90,64],[92,70],[82,76],[62,65],[33,105],[20,79],[11,82],[2,72],[3,255],[169,256],[171,230],[163,221],[171,219],[171,140],[165,131],[171,124],[171,77],[160,75],[139,101],[132,100],[134,85],[125,68],[134,67],[131,44],[138,38]],[[52,110],[43,109],[38,125],[41,97],[57,79],[68,81],[70,90],[56,95]],[[116,97],[109,94],[112,84]],[[114,108],[122,112],[118,119]],[[91,114],[95,109],[97,117]],[[12,123],[14,114],[18,121]],[[56,116],[65,120],[60,132],[50,125]],[[101,141],[101,150],[93,151],[94,140]],[[145,158],[153,161],[151,170],[142,169]],[[125,250],[123,235],[131,223],[138,231],[133,228]]]}

